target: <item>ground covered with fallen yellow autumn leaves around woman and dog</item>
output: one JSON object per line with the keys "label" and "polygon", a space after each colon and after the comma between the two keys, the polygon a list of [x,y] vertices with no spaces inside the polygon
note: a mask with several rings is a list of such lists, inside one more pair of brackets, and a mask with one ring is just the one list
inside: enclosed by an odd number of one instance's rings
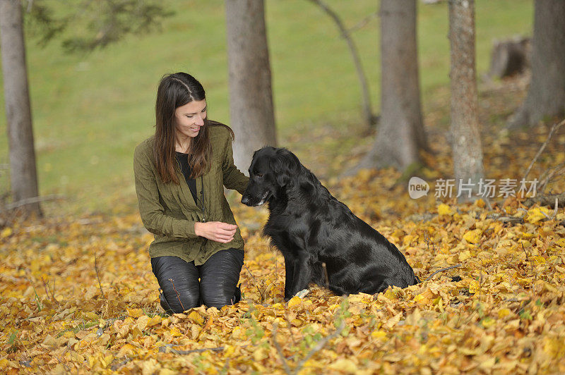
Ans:
{"label": "ground covered with fallen yellow autumn leaves around woman and dog", "polygon": [[[546,127],[502,129],[522,89],[483,87],[489,178],[522,178],[547,139]],[[426,109],[434,153],[424,155],[420,176],[430,182],[451,176],[445,100],[448,93]],[[260,235],[267,212],[232,195],[246,240],[243,301],[166,316],[147,253],[152,236],[135,209],[8,221],[0,232],[0,371],[564,373],[564,209],[525,207],[516,197],[440,201],[433,184],[428,197],[410,199],[393,169],[339,178],[370,146],[363,131],[305,128],[285,141],[335,197],[399,247],[419,285],[349,297],[313,288],[285,303],[283,259]],[[564,145],[562,127],[530,177],[562,163]],[[547,191],[565,191],[557,177]]]}

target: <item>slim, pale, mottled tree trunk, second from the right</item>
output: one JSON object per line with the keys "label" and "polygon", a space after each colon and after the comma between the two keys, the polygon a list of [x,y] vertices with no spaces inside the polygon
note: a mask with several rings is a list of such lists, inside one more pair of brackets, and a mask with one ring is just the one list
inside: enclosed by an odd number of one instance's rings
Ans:
{"label": "slim, pale, mottled tree trunk, second from the right", "polygon": [[[449,1],[449,40],[451,43],[451,142],[458,202],[477,199],[484,177],[482,145],[477,116],[477,77],[475,69],[475,1]],[[467,185],[470,183],[470,185]]]}

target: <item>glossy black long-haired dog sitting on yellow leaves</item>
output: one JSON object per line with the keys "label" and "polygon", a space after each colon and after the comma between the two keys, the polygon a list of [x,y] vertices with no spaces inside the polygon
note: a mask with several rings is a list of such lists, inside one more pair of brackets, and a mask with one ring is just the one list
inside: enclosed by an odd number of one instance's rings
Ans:
{"label": "glossy black long-haired dog sitting on yellow leaves", "polygon": [[396,246],[335,199],[292,152],[259,149],[249,177],[242,203],[268,203],[263,233],[285,257],[285,300],[311,282],[337,295],[420,283]]}

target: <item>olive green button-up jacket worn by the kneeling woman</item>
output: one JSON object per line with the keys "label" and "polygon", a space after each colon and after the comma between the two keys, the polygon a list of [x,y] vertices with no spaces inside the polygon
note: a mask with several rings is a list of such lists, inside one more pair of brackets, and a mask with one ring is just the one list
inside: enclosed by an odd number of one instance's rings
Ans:
{"label": "olive green button-up jacket worn by the kneeling woman", "polygon": [[155,137],[150,137],[141,142],[133,154],[139,213],[145,228],[155,235],[149,245],[150,257],[170,255],[186,262],[194,261],[198,266],[220,250],[230,247],[243,250],[239,228],[232,242],[228,243],[207,240],[194,233],[194,223],[204,219],[236,224],[224,196],[224,186],[243,194],[249,178],[234,166],[232,139],[227,128],[210,124],[212,160],[210,171],[202,178],[196,178],[197,202],[194,202],[178,165],[180,185],[162,183],[153,157],[154,140]]}

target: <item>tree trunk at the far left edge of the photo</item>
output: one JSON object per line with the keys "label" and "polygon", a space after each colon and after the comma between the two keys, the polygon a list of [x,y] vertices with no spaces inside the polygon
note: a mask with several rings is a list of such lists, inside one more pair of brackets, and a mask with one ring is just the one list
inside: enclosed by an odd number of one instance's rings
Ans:
{"label": "tree trunk at the far left edge of the photo", "polygon": [[[22,11],[19,0],[0,0],[0,45],[4,74],[4,101],[10,148],[10,176],[14,202],[37,197],[37,171],[31,123],[28,70],[25,66]],[[40,204],[23,210],[41,216]]]}

